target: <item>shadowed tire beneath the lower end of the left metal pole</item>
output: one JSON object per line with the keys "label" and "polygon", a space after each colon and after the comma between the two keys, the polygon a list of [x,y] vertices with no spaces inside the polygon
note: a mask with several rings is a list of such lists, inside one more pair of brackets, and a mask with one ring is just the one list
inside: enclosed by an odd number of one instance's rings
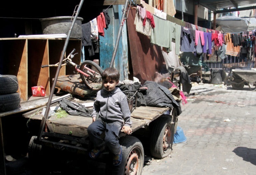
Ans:
{"label": "shadowed tire beneath the lower end of the left metal pole", "polygon": [[42,159],[42,145],[35,144],[37,136],[32,136],[28,145],[28,159],[32,164],[38,164]]}

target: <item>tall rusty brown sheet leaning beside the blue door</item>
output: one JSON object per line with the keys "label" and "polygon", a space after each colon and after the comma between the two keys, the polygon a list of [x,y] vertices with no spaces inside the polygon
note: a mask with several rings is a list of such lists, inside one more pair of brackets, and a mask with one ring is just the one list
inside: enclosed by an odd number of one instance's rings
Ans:
{"label": "tall rusty brown sheet leaning beside the blue door", "polygon": [[150,38],[135,30],[136,8],[131,8],[127,17],[133,76],[142,84],[146,80],[157,81],[159,74],[168,73],[160,46],[152,45]]}

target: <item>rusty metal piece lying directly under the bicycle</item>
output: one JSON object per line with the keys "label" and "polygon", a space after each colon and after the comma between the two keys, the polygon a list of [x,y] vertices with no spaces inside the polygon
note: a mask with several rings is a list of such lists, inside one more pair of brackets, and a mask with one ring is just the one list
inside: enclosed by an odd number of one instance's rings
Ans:
{"label": "rusty metal piece lying directly under the bicycle", "polygon": [[63,91],[73,93],[82,97],[96,94],[97,91],[88,89],[84,84],[79,74],[63,75],[58,77],[56,87]]}

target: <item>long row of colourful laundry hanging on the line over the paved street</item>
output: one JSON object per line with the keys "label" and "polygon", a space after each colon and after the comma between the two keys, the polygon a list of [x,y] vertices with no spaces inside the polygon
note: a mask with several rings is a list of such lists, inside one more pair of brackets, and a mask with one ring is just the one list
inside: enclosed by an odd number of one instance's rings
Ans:
{"label": "long row of colourful laundry hanging on the line over the paved street", "polygon": [[[235,33],[223,33],[188,22],[181,22],[181,20],[163,14],[164,12],[160,14],[156,12],[157,9],[155,9],[155,13],[151,15],[153,17],[151,18],[150,16],[149,21],[149,19],[147,19],[149,12],[141,6],[137,6],[134,21],[136,31],[149,36],[152,44],[165,47],[167,52],[172,51],[171,41],[174,39],[176,47],[175,52],[177,55],[179,55],[180,51],[212,54],[212,48],[214,48],[214,46],[220,47],[224,45],[223,47],[227,47],[227,55],[238,56],[242,43],[245,40],[247,41],[247,39],[255,39],[253,32],[246,33],[246,37],[244,37],[245,32],[238,32],[240,35],[235,35]],[[152,25],[152,21],[154,25]]]}

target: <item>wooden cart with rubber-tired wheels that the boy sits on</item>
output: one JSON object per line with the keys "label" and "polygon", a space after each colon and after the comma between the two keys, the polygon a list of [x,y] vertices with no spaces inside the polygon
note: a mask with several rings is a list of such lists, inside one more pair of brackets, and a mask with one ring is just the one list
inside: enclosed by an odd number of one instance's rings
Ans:
{"label": "wooden cart with rubber-tired wheels that the boy sits on", "polygon": [[[81,96],[71,97],[69,100],[83,104],[87,108],[92,108],[94,98]],[[58,103],[51,105],[52,108],[57,106]],[[23,117],[32,121],[42,120],[44,119],[42,111],[45,107],[25,113]],[[107,171],[111,171],[111,174],[129,174],[131,171],[141,174],[144,164],[144,148],[137,137],[141,134],[148,137],[150,153],[153,157],[164,158],[168,156],[171,153],[174,133],[176,132],[175,127],[177,127],[177,110],[176,108],[149,106],[131,109],[133,132],[131,135],[126,135],[122,132],[119,134],[119,143],[123,150],[122,163],[119,166],[108,166],[111,169]],[[43,150],[47,147],[84,154],[85,158],[89,158],[88,154],[92,148],[87,128],[91,123],[91,117],[67,115],[66,117],[58,118],[56,115],[49,116],[46,126],[41,126],[46,128],[43,131],[42,138],[37,139],[38,136],[31,137],[28,148],[29,159],[32,160],[31,162],[37,162],[36,165],[40,165],[38,161],[40,161],[42,155],[46,154]],[[108,151],[102,155],[108,155]],[[106,163],[111,162],[107,158],[100,160]]]}

